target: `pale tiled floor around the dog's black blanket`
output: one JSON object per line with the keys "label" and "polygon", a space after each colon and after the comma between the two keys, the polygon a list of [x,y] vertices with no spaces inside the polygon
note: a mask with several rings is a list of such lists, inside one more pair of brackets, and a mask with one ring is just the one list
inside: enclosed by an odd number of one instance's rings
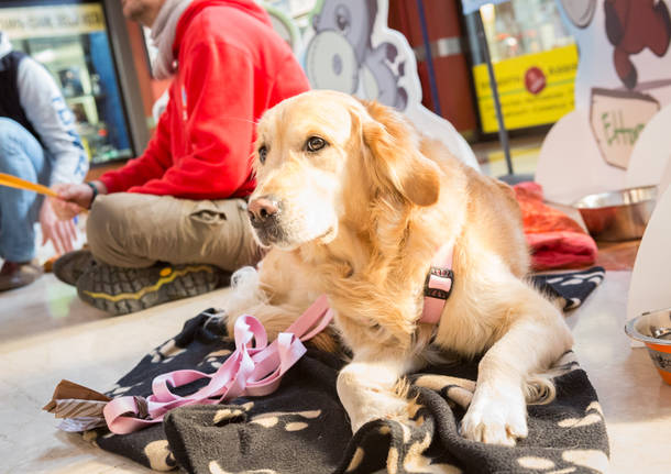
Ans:
{"label": "pale tiled floor around the dog's black blanket", "polygon": [[[532,172],[535,150],[532,143],[516,146],[517,173]],[[476,152],[496,157],[492,147]],[[528,168],[520,157],[528,161]],[[495,176],[506,173],[502,159],[486,165],[485,172]],[[612,471],[661,474],[671,472],[671,387],[661,382],[645,350],[630,348],[623,331],[629,254],[627,250],[623,253],[628,262],[624,265],[618,265],[622,257],[604,254],[609,268],[618,271],[608,272],[604,284],[568,321],[579,361],[605,412]],[[119,318],[86,306],[74,288],[53,275],[28,288],[0,294],[0,472],[148,472],[77,434],[59,432],[53,416],[41,408],[62,378],[99,390],[110,388],[144,353],[178,332],[185,320],[218,306],[227,291]]]}

